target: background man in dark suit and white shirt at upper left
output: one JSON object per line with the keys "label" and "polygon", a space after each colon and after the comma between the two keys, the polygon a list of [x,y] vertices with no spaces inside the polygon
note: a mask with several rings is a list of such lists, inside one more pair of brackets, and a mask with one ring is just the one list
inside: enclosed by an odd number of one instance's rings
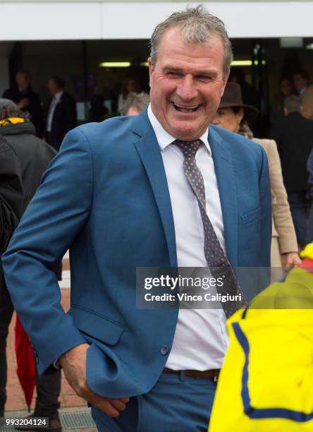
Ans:
{"label": "background man in dark suit and white shirt at upper left", "polygon": [[46,139],[56,151],[59,151],[66,133],[77,124],[75,100],[64,87],[65,83],[59,76],[49,78],[48,88],[52,98],[47,114]]}

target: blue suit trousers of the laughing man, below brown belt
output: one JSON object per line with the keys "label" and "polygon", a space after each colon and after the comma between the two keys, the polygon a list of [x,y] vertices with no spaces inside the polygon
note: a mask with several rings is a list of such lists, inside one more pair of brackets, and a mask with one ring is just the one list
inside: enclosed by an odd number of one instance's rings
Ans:
{"label": "blue suit trousers of the laughing man, below brown belt", "polygon": [[99,432],[207,432],[216,383],[162,373],[145,395],[131,397],[116,418],[92,407]]}

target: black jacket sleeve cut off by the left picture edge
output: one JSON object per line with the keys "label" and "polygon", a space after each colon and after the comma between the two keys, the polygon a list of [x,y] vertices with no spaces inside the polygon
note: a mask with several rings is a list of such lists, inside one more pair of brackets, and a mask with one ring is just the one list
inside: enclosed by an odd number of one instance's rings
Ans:
{"label": "black jacket sleeve cut off by the left picture edge", "polygon": [[18,156],[0,136],[0,255],[6,250],[22,211],[23,188]]}

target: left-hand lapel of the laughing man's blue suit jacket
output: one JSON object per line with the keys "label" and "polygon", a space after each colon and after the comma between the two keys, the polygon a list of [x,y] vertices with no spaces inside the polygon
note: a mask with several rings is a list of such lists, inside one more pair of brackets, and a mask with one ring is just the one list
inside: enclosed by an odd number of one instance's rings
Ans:
{"label": "left-hand lapel of the laughing man's blue suit jacket", "polygon": [[135,141],[135,147],[147,172],[154,199],[159,209],[168,246],[170,265],[171,267],[176,267],[176,238],[171,198],[168,191],[161,150],[149,122],[147,111],[134,118],[133,132],[140,137]]}

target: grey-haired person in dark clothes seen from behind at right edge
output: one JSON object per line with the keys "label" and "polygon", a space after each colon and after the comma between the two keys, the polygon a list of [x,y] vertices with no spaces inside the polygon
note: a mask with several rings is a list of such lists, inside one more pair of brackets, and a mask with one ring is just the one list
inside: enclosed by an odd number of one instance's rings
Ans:
{"label": "grey-haired person in dark clothes seen from behind at right edge", "polygon": [[[304,108],[309,112],[307,107]],[[285,116],[271,127],[270,137],[276,141],[281,157],[283,183],[288,193],[297,242],[304,247],[309,205],[307,158],[312,150],[313,121],[300,114],[300,99],[295,95],[286,97],[284,112]]]}

